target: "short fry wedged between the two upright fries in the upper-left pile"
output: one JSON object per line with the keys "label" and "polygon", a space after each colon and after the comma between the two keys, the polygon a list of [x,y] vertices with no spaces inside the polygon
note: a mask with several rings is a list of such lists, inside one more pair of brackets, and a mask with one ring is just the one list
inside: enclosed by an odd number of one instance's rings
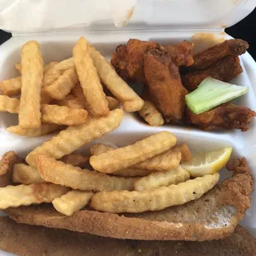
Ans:
{"label": "short fry wedged between the two upright fries in the upper-left pile", "polygon": [[53,83],[45,87],[44,91],[56,100],[63,100],[77,83],[77,72],[75,68],[70,68],[65,70]]}

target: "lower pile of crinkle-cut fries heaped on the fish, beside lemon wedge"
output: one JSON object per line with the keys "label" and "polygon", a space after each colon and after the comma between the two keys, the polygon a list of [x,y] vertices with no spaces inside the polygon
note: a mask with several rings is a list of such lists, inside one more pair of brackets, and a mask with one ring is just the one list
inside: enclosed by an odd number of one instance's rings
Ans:
{"label": "lower pile of crinkle-cut fries heaped on the fish, beside lemon wedge", "polygon": [[[12,163],[11,179],[0,188],[0,209],[52,203],[66,216],[87,205],[114,213],[158,211],[195,200],[216,185],[219,173],[191,179],[180,164],[192,154],[168,131],[123,148],[92,145],[91,156],[73,153],[115,129],[121,119],[116,109],[69,126],[32,150],[27,164]],[[8,159],[15,156],[8,154]]]}

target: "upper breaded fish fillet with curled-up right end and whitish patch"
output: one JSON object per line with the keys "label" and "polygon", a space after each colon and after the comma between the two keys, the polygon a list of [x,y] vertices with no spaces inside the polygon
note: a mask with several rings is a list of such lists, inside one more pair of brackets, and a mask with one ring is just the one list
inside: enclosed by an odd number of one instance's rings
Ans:
{"label": "upper breaded fish fillet with curled-up right end and whitish patch", "polygon": [[162,211],[117,215],[83,210],[63,216],[52,207],[9,208],[7,214],[18,223],[44,225],[117,239],[192,240],[222,239],[230,235],[249,208],[254,180],[246,160],[227,165],[233,177],[203,197],[183,206]]}

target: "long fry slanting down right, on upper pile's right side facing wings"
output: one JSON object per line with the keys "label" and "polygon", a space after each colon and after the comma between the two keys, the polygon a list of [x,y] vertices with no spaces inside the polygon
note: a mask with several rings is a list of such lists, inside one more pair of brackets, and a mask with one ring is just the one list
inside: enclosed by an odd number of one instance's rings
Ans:
{"label": "long fry slanting down right, on upper pile's right side facing wings", "polygon": [[89,45],[89,50],[101,81],[124,105],[125,111],[140,111],[144,105],[143,99],[116,73],[116,70],[100,52],[92,47],[92,45]]}

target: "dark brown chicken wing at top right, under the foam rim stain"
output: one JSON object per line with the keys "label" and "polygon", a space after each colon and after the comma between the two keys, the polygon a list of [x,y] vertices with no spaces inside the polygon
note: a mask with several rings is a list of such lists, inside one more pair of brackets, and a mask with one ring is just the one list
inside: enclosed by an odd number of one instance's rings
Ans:
{"label": "dark brown chicken wing at top right, under the foam rim stain", "polygon": [[192,72],[199,69],[206,69],[215,64],[220,59],[227,56],[239,56],[243,55],[249,48],[249,44],[241,39],[230,39],[224,42],[213,45],[210,48],[201,51],[197,55],[194,55],[194,64],[187,68],[187,71]]}

